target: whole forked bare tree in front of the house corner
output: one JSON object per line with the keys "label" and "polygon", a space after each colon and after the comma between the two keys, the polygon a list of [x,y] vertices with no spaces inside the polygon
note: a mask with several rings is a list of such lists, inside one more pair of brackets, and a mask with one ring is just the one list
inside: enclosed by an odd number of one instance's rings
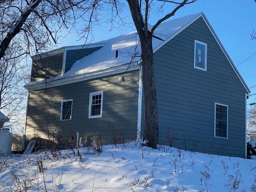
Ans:
{"label": "whole forked bare tree in front of the house corner", "polygon": [[140,38],[141,45],[141,59],[142,59],[142,81],[144,93],[144,127],[147,145],[156,148],[158,143],[158,107],[154,80],[154,55],[152,47],[152,38],[157,38],[154,35],[156,28],[186,4],[191,4],[196,0],[182,0],[174,2],[170,0],[158,0],[163,2],[163,5],[171,3],[176,7],[169,13],[160,18],[151,29],[148,28],[148,18],[150,16],[150,9],[152,8],[153,0],[127,0],[130,7],[132,19]]}

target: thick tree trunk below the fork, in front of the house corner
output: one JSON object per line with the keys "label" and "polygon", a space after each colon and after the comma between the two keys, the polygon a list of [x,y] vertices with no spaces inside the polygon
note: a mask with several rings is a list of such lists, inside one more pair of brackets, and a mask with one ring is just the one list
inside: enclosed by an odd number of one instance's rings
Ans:
{"label": "thick tree trunk below the fork, in front of the house corner", "polygon": [[142,45],[142,84],[144,96],[144,129],[148,140],[147,146],[156,148],[158,144],[158,107],[156,87],[154,80],[154,58],[152,38],[145,40],[146,46]]}

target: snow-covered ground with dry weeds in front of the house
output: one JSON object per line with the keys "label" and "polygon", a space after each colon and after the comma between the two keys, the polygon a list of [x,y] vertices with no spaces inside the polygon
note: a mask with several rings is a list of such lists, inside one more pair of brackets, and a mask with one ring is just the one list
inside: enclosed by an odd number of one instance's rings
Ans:
{"label": "snow-covered ground with dry weeds in front of the house", "polygon": [[99,155],[88,148],[79,152],[9,158],[9,168],[0,166],[0,191],[26,191],[26,186],[28,191],[60,192],[256,191],[256,160],[167,146],[152,150],[135,143],[103,146]]}

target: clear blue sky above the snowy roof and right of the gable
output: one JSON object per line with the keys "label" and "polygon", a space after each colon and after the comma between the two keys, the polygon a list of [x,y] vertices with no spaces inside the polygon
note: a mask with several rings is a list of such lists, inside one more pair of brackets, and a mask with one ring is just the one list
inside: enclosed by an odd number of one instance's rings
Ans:
{"label": "clear blue sky above the snowy roof and right of the gable", "polygon": [[[124,3],[126,2],[124,1]],[[158,4],[155,4],[155,7],[158,7]],[[170,4],[164,13],[170,12],[173,8],[173,5]],[[127,4],[123,9],[122,16],[126,16],[127,22],[132,22]],[[204,12],[224,48],[237,65],[256,52],[256,40],[250,38],[253,29],[256,29],[255,11],[256,2],[254,0],[246,0],[246,3],[239,0],[198,0],[198,2],[178,10],[173,18]],[[149,23],[154,24],[158,18],[158,15],[151,14]],[[82,23],[78,24],[79,26],[82,26]],[[134,27],[130,26],[122,31],[120,29],[110,31],[110,24],[102,23],[93,28],[93,42],[106,40],[133,30]],[[75,33],[69,34],[59,46],[84,43],[83,40],[77,41],[78,39],[79,37]],[[248,86],[256,85],[256,54],[238,66],[238,71]],[[256,87],[251,88],[251,92],[252,94],[256,93]],[[248,103],[251,102],[256,102],[256,96],[249,98]]]}

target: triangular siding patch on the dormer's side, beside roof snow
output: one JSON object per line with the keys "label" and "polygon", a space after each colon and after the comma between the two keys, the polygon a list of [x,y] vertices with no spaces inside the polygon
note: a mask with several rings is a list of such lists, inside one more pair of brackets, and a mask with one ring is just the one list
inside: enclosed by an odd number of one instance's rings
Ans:
{"label": "triangular siding patch on the dormer's side, beside roof snow", "polygon": [[73,66],[73,64],[76,61],[84,58],[85,56],[92,54],[94,51],[99,50],[100,48],[102,48],[102,47],[67,50],[66,51],[65,73],[68,72],[68,70],[70,70],[70,68]]}

